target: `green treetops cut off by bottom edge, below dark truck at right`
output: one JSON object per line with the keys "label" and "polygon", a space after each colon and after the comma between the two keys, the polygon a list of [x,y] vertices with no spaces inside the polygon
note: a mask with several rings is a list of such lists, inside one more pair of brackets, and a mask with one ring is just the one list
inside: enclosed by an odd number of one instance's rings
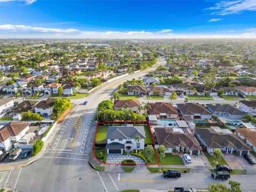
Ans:
{"label": "green treetops cut off by bottom edge, below dark truck at right", "polygon": [[241,183],[230,180],[228,184],[231,186],[228,188],[224,183],[212,183],[207,187],[209,192],[242,192]]}

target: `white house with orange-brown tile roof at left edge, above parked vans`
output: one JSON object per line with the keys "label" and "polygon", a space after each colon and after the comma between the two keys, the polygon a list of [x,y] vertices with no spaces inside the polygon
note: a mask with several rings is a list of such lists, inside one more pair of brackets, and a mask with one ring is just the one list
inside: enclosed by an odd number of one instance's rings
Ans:
{"label": "white house with orange-brown tile roof at left edge, above parked vans", "polygon": [[10,150],[15,142],[18,142],[29,129],[30,123],[11,122],[0,128],[0,148]]}

